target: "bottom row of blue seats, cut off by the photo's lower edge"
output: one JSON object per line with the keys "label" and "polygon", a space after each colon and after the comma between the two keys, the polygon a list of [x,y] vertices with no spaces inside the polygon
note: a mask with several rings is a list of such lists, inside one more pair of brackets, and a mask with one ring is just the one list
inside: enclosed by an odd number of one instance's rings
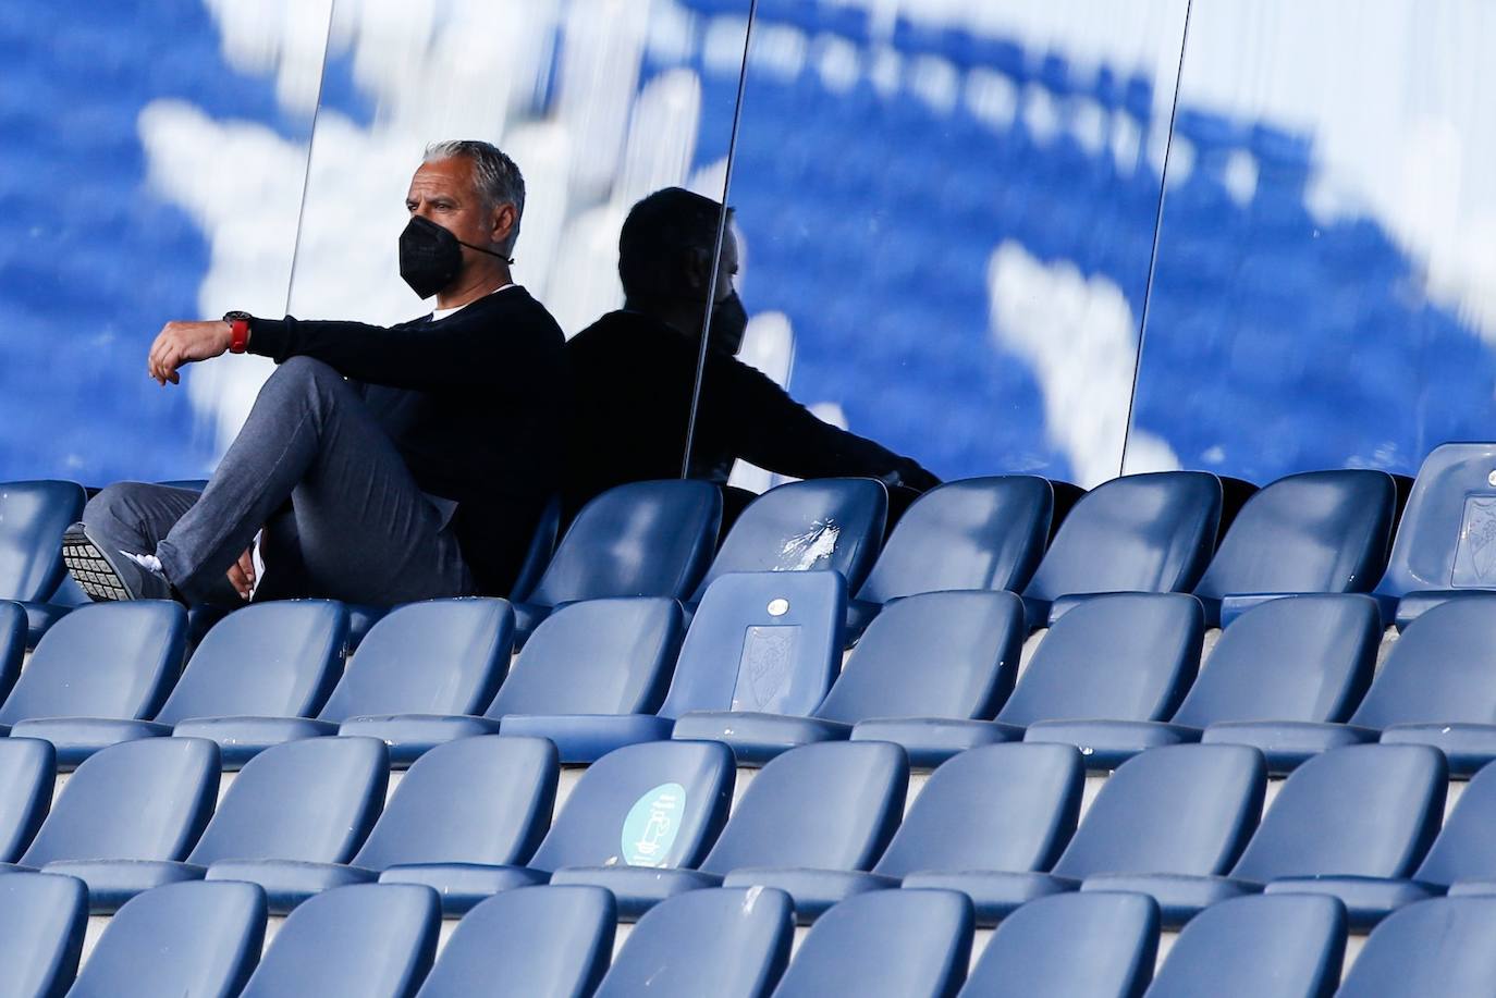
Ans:
{"label": "bottom row of blue seats, cut off by the photo's lower edge", "polygon": [[[1345,916],[1331,898],[1272,895],[1210,907],[1155,977],[1158,910],[1143,895],[1034,901],[969,968],[971,905],[899,890],[832,908],[791,959],[793,916],[773,889],[717,887],[645,916],[612,956],[598,887],[525,887],[470,911],[437,958],[437,898],[414,884],[338,887],[292,913],[263,952],[253,884],[157,887],[115,914],[76,982],[85,901],[70,877],[0,878],[7,994],[75,998],[274,995],[468,998],[649,995],[778,998],[1399,998],[1496,989],[1496,899],[1409,905],[1370,935],[1340,982]],[[169,938],[169,947],[162,940]],[[1336,986],[1339,989],[1336,989]]]}

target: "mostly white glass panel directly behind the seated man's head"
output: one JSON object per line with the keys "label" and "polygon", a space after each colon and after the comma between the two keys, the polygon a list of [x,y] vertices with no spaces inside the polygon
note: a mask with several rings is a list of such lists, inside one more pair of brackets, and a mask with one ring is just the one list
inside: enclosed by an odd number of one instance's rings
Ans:
{"label": "mostly white glass panel directly behind the seated man's head", "polygon": [[[524,174],[513,277],[562,331],[619,308],[630,206],[670,186],[723,198],[747,10],[748,0],[712,13],[669,0],[338,0],[292,313],[392,323],[429,311],[398,277],[396,239],[422,150],[453,138],[494,142]],[[726,69],[706,78],[706,64]],[[628,420],[618,373],[583,392],[601,413],[588,432],[606,437],[589,449],[651,444],[652,465],[619,462],[619,474],[681,471],[697,329],[681,340],[688,358],[666,425]]]}

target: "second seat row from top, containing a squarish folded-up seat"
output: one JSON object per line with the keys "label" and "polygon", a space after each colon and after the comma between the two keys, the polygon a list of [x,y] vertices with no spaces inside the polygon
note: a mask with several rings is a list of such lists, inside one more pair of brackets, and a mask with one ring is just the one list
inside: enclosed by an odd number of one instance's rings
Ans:
{"label": "second seat row from top, containing a squarish folded-up seat", "polygon": [[344,669],[347,607],[281,601],[220,621],[178,678],[177,604],[79,607],[24,672],[24,613],[0,604],[0,724],[52,742],[64,769],[166,735],[208,738],[238,768],[302,738],[380,738],[408,765],[500,732],[548,738],[565,763],[672,736],[724,742],[747,766],[845,739],[896,742],[922,768],[1011,741],[1077,745],[1098,771],[1197,741],[1257,747],[1275,774],[1372,741],[1433,745],[1457,777],[1496,759],[1496,594],[1421,615],[1375,682],[1381,628],[1361,594],[1257,604],[1203,667],[1197,597],[1101,594],[1049,628],[1022,679],[1011,593],[896,600],[842,666],[845,606],[835,572],[732,573],[688,628],[669,599],[571,603],[512,663],[509,601],[432,600],[383,616]]}

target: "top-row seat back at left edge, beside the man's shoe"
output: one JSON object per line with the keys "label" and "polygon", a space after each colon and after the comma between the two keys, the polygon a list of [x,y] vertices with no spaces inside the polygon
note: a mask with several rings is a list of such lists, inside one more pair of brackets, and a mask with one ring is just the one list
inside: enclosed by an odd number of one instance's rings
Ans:
{"label": "top-row seat back at left edge, beside the man's shoe", "polygon": [[75,482],[0,483],[0,600],[45,600],[61,584],[63,531],[84,516]]}

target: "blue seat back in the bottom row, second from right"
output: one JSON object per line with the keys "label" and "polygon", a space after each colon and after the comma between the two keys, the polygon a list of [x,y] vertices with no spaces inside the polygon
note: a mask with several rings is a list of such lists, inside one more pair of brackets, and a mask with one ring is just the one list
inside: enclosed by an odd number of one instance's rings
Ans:
{"label": "blue seat back in the bottom row, second from right", "polygon": [[1330,998],[1343,959],[1339,898],[1248,895],[1189,920],[1147,998]]}

